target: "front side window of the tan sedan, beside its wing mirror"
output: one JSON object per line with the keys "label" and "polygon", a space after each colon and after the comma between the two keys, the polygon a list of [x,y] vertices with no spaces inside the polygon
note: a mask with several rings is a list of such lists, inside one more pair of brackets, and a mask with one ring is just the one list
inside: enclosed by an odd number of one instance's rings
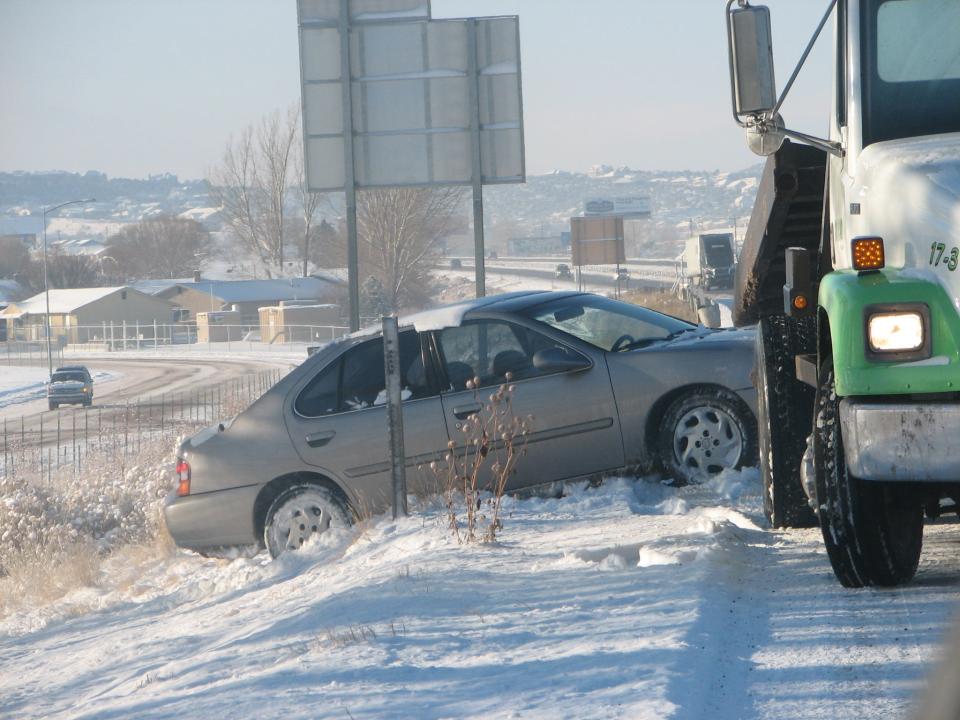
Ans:
{"label": "front side window of the tan sedan, beside its wing mirror", "polygon": [[479,378],[479,387],[526,380],[545,373],[533,365],[533,356],[545,348],[564,346],[545,335],[502,321],[475,322],[447,328],[439,334],[448,390],[465,390]]}

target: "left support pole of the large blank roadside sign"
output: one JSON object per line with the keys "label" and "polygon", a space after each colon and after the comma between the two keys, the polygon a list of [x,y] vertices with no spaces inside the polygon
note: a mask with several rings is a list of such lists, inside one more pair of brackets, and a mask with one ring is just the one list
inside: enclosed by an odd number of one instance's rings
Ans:
{"label": "left support pole of the large blank roadside sign", "polygon": [[357,252],[357,179],[353,162],[353,73],[350,68],[350,0],[340,0],[340,87],[343,91],[343,187],[347,212],[347,278],[350,330],[360,329],[360,260]]}

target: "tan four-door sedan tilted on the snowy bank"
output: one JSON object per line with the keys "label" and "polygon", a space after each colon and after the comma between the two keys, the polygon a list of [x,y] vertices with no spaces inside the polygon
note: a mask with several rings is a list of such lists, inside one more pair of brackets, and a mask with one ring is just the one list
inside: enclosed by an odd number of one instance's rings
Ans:
{"label": "tan four-door sedan tilted on the snowy bank", "polygon": [[[508,491],[638,467],[685,483],[752,465],[753,342],[752,331],[578,292],[510,293],[402,320],[408,489],[435,489],[430,461],[463,442],[484,389],[508,373],[514,412],[533,418]],[[276,556],[361,509],[385,510],[384,384],[382,338],[353,335],[232,423],[184,442],[164,506],[177,544],[262,543]]]}

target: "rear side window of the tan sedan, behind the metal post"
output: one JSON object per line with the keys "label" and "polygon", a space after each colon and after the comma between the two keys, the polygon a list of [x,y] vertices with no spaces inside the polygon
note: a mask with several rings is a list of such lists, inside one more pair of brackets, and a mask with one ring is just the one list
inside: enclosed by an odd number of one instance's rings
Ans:
{"label": "rear side window of the tan sedan, behind the metal post", "polygon": [[[417,400],[432,394],[420,346],[413,331],[400,333],[401,396]],[[321,370],[300,393],[295,409],[305,417],[363,410],[386,405],[383,339],[369,340],[348,350]]]}

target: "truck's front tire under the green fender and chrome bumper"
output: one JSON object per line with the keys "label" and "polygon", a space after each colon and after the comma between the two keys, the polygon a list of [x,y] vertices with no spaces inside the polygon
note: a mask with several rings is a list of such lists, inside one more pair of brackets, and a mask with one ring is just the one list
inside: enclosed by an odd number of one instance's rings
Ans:
{"label": "truck's front tire under the green fender and chrome bumper", "polygon": [[870,482],[847,471],[833,364],[820,373],[814,467],[820,529],[844,587],[892,587],[917,572],[923,546],[923,499],[910,483]]}

